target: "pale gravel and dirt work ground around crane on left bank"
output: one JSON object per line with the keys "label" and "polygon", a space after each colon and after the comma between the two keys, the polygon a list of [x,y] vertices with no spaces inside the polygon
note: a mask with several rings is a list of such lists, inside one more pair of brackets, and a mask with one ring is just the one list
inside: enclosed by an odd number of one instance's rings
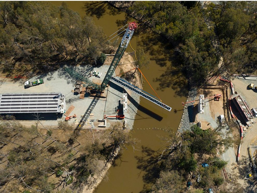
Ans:
{"label": "pale gravel and dirt work ground around crane on left bank", "polygon": [[[91,65],[80,65],[75,68],[75,70],[81,74],[83,74],[85,77],[88,77],[90,71],[96,70],[98,72],[102,72],[102,77],[97,78],[95,76],[90,77],[89,79],[92,81],[98,81],[102,83],[102,80],[104,79],[108,68],[110,66],[110,63],[113,59],[113,56],[108,56],[106,59],[104,65],[102,66],[91,66]],[[120,60],[120,65],[118,65],[117,70],[115,73],[117,75],[120,72],[120,69],[122,69],[124,72],[127,70],[131,70],[133,66],[133,57],[127,53],[124,53],[124,56]],[[69,67],[69,66],[68,66]],[[114,75],[115,75],[114,73]],[[136,73],[137,74],[137,73]],[[91,101],[92,97],[89,97],[88,94],[85,94],[84,99],[79,99],[79,95],[75,95],[72,90],[74,90],[75,82],[69,74],[66,73],[63,68],[59,68],[57,71],[51,72],[51,73],[45,73],[36,77],[33,77],[30,79],[30,81],[37,80],[38,78],[44,79],[44,84],[29,87],[27,89],[24,88],[24,82],[26,79],[10,79],[10,78],[1,78],[0,79],[0,94],[3,93],[39,93],[39,92],[60,92],[65,95],[67,109],[73,105],[75,106],[74,110],[70,113],[69,116],[72,116],[73,114],[77,115],[77,122],[75,122],[75,119],[71,119],[69,121],[70,125],[73,125],[74,127],[77,126],[77,123],[80,121],[81,116],[83,115]],[[136,78],[134,81],[139,81],[139,75],[136,75]],[[97,126],[99,122],[97,122],[99,119],[103,119],[104,115],[116,115],[115,109],[119,105],[120,99],[123,98],[123,89],[115,84],[111,84],[108,87],[108,91],[106,88],[106,95],[107,98],[101,98],[98,100],[95,108],[92,111],[92,115],[90,116],[90,119],[95,119],[94,125]],[[130,101],[128,101],[130,103]],[[66,109],[66,110],[67,110]],[[128,113],[124,113],[126,118],[131,118]],[[58,120],[64,119],[65,116],[53,116],[53,115],[39,115],[40,120],[42,124],[46,127],[56,127],[58,126]],[[35,122],[35,116],[28,115],[28,114],[22,114],[20,116],[21,119],[18,119],[22,122],[24,126],[30,127]],[[126,119],[125,118],[125,119]],[[112,121],[114,122],[114,121]],[[116,122],[116,121],[115,121]],[[111,125],[111,122],[107,122],[107,126]],[[39,125],[40,127],[41,125]],[[83,128],[91,128],[91,125],[87,121],[87,123],[84,125]]]}

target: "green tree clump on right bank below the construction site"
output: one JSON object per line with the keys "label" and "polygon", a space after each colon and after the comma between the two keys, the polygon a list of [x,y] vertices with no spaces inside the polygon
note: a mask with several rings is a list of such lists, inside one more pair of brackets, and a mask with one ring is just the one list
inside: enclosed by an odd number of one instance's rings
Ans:
{"label": "green tree clump on right bank below the construction site", "polygon": [[[167,147],[158,156],[160,173],[149,192],[184,192],[187,182],[194,181],[196,192],[224,183],[221,170],[227,162],[217,157],[217,151],[232,146],[233,140],[220,129],[202,130],[196,125],[180,137],[168,139]],[[209,167],[202,167],[208,163]],[[199,183],[196,178],[200,176]]]}

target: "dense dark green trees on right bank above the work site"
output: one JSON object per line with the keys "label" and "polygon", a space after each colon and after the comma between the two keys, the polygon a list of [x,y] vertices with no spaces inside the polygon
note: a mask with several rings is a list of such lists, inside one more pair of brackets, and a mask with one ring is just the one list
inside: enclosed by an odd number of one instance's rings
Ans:
{"label": "dense dark green trees on right bank above the work site", "polygon": [[[253,1],[203,6],[137,1],[128,13],[170,42],[176,68],[187,76],[190,86],[200,86],[220,74],[256,73],[256,8]],[[158,78],[161,88],[172,85],[171,70]]]}

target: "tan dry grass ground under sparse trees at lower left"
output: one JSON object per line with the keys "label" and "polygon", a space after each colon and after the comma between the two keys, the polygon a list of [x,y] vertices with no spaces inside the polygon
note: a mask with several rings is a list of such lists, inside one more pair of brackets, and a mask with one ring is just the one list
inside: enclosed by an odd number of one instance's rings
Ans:
{"label": "tan dry grass ground under sparse trees at lower left", "polygon": [[[10,125],[12,124],[10,122]],[[12,129],[6,129],[6,132],[8,130]],[[57,186],[63,180],[61,176],[57,175],[59,169],[69,170],[70,167],[77,164],[77,158],[82,154],[87,154],[86,147],[90,146],[94,140],[108,143],[106,137],[103,136],[104,131],[101,130],[82,130],[76,139],[72,137],[73,132],[72,129],[49,130],[36,126],[32,126],[32,128],[20,126],[16,130],[8,132],[7,134],[11,136],[6,135],[1,139],[4,145],[0,149],[0,170],[9,171],[16,177],[10,178],[9,183],[0,184],[0,190],[9,192],[30,190],[34,192],[35,189],[38,189],[38,182],[31,181],[37,179],[38,175],[47,179],[47,183],[57,190]],[[103,166],[103,163],[98,164],[101,165],[99,167]],[[22,172],[20,167],[23,168]],[[22,176],[24,183],[17,175]],[[76,171],[73,171],[71,175],[74,177],[73,181],[76,181]],[[32,189],[26,186],[30,186]],[[65,189],[70,186],[74,187],[74,184],[64,183]],[[60,190],[62,187],[63,184],[58,189]]]}

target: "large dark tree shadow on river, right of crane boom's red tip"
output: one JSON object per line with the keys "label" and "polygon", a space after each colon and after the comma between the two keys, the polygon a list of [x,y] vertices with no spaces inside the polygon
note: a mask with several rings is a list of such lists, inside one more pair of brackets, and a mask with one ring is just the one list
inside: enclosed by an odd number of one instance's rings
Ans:
{"label": "large dark tree shadow on river, right of crane boom's red tip", "polygon": [[187,96],[188,80],[183,73],[180,57],[174,52],[174,46],[152,32],[142,35],[139,44],[149,53],[150,60],[163,67],[162,74],[154,79],[159,83],[158,90],[172,88],[175,96]]}

